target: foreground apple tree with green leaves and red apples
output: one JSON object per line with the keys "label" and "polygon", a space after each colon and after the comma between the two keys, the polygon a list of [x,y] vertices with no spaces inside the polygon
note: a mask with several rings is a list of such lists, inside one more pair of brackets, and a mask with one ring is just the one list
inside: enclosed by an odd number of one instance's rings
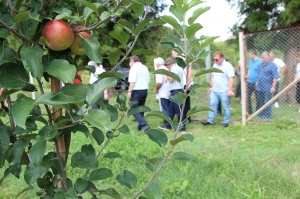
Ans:
{"label": "foreground apple tree with green leaves and red apples", "polygon": [[[202,28],[196,20],[209,8],[199,7],[201,2],[198,0],[174,0],[170,7],[173,16],[147,18],[152,3],[153,0],[0,1],[0,87],[5,89],[0,100],[8,105],[8,112],[0,114],[0,166],[5,168],[1,182],[8,175],[20,178],[23,168],[24,180],[41,189],[37,193],[41,198],[81,198],[85,192],[89,192],[92,198],[101,195],[121,198],[114,187],[104,190],[97,187],[98,181],[113,176],[113,171],[101,167],[99,156],[109,143],[118,142],[117,135],[130,133],[128,126],[122,125],[122,120],[125,115],[136,112],[147,112],[147,117],[165,119],[174,127],[174,137],[169,141],[166,134],[157,129],[145,132],[158,147],[167,148],[167,153],[158,158],[146,158],[152,165],[153,175],[140,190],[136,188],[134,173],[124,170],[116,176],[121,185],[133,189],[132,198],[154,198],[154,195],[162,198],[161,189],[153,180],[166,162],[198,162],[191,154],[173,153],[177,143],[193,141],[190,134],[180,136],[178,127],[181,123],[173,122],[167,115],[146,106],[131,109],[122,95],[117,97],[115,104],[103,103],[100,94],[114,87],[117,78],[124,78],[121,74],[103,73],[93,85],[73,84],[77,71],[93,72],[92,67],[80,65],[84,56],[97,63],[103,62],[98,31],[114,19],[118,20],[114,21],[114,28],[107,37],[116,41],[116,50],[106,58],[114,69],[131,55],[155,54],[149,49],[133,49],[141,33],[146,34],[148,28],[165,23],[177,34],[164,35],[162,45],[185,55],[185,60],[176,59],[181,67],[206,58],[210,52],[204,49],[215,37],[196,37]],[[132,24],[122,18],[129,9],[138,23]],[[186,13],[192,12],[191,9],[193,14],[187,18]],[[196,76],[213,71],[202,70]],[[158,70],[155,73],[178,79],[170,72]],[[47,82],[51,85],[50,91],[46,89]],[[198,88],[208,86],[205,82],[196,84],[189,95],[195,95]],[[36,99],[29,97],[33,91],[40,94]],[[181,94],[171,100],[182,104],[187,97],[187,94]],[[92,109],[94,102],[103,109]],[[78,114],[79,108],[83,109],[83,114]],[[188,112],[188,116],[208,110],[197,106]],[[83,132],[94,141],[82,145],[72,157],[68,157],[71,135],[75,132]],[[55,150],[48,151],[49,146]],[[113,158],[119,154],[105,155]],[[71,167],[82,171],[80,178],[68,178],[68,161]]]}

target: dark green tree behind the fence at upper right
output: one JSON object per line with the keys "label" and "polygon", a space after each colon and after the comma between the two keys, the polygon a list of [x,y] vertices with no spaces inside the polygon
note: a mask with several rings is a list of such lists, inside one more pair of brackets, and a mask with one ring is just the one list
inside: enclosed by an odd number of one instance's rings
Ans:
{"label": "dark green tree behind the fence at upper right", "polygon": [[[233,32],[271,30],[300,24],[300,1],[298,0],[227,0],[227,2],[237,8],[241,19],[232,27]],[[293,32],[278,30],[247,36],[248,49],[255,48],[259,52],[267,50],[283,54],[284,62],[287,65],[283,81],[284,87],[290,84],[294,78],[295,57],[300,50],[295,41],[299,40],[299,35],[298,28]],[[293,96],[294,92],[286,92],[280,100],[294,103]]]}

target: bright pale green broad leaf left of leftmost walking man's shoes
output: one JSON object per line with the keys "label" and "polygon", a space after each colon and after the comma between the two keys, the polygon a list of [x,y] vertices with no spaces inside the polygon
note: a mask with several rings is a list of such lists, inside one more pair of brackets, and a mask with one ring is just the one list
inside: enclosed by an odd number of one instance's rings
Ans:
{"label": "bright pale green broad leaf left of leftmost walking man's shoes", "polygon": [[105,131],[109,131],[112,128],[109,114],[103,110],[90,109],[88,114],[85,115],[85,119],[96,128],[104,129]]}

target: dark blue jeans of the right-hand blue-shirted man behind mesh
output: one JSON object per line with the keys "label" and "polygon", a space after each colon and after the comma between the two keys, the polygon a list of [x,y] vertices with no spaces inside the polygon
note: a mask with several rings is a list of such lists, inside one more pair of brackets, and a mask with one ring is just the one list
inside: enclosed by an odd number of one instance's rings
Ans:
{"label": "dark blue jeans of the right-hand blue-shirted man behind mesh", "polygon": [[[270,91],[256,91],[258,109],[265,105],[272,98]],[[258,116],[270,119],[272,115],[272,104],[265,108]]]}

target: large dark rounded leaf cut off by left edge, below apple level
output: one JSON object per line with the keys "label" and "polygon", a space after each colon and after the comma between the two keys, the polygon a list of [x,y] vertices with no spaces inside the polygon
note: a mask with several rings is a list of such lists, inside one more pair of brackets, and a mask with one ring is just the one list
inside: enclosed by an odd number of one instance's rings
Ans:
{"label": "large dark rounded leaf cut off by left edge, below apple level", "polygon": [[27,71],[15,63],[3,64],[0,67],[0,76],[1,88],[22,89],[30,85]]}

